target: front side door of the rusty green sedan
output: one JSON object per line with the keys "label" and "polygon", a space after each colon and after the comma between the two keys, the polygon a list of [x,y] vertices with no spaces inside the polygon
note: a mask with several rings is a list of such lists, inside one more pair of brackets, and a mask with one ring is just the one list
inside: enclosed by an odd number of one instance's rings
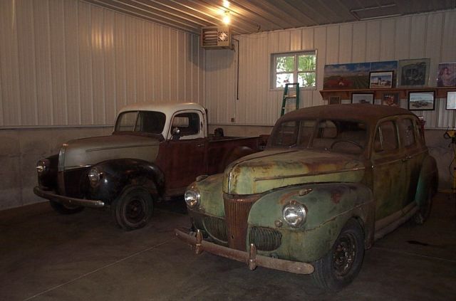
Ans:
{"label": "front side door of the rusty green sedan", "polygon": [[372,150],[375,221],[403,208],[408,193],[408,162],[400,147],[397,118],[378,122]]}

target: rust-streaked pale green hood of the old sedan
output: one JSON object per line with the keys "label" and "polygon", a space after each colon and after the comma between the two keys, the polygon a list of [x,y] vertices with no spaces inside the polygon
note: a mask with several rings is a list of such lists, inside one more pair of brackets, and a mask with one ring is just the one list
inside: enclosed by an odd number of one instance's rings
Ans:
{"label": "rust-streaked pale green hood of the old sedan", "polygon": [[227,194],[264,191],[312,182],[361,181],[364,165],[358,156],[309,149],[271,149],[251,154],[224,171]]}

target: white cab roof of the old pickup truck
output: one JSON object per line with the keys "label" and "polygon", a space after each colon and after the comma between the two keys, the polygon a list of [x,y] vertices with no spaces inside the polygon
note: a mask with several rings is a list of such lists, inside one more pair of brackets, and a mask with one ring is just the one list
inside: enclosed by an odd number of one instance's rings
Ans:
{"label": "white cab roof of the old pickup truck", "polygon": [[119,114],[128,111],[157,111],[163,112],[166,115],[171,115],[172,113],[181,110],[204,111],[204,107],[196,102],[138,102],[133,105],[122,107],[119,110]]}

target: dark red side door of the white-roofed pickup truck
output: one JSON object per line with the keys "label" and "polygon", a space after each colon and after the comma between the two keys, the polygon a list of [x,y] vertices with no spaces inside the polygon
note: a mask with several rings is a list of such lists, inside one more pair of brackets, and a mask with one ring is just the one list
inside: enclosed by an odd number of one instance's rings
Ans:
{"label": "dark red side door of the white-roofed pickup truck", "polygon": [[171,120],[165,149],[167,194],[182,194],[185,188],[204,174],[204,137],[202,112],[176,112]]}

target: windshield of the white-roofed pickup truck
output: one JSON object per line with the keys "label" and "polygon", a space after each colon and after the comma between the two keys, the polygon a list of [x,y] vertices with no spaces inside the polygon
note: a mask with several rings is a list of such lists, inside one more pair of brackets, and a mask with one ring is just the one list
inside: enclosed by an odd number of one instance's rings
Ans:
{"label": "windshield of the white-roofed pickup truck", "polygon": [[155,111],[123,112],[115,122],[115,132],[162,134],[166,116]]}

